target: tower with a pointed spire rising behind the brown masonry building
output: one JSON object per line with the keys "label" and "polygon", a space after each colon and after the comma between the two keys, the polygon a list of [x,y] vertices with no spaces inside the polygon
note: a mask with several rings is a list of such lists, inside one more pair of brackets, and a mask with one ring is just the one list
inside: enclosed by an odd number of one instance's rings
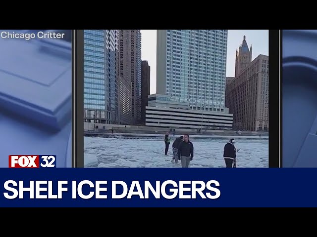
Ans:
{"label": "tower with a pointed spire rising behind the brown masonry building", "polygon": [[243,37],[243,41],[239,46],[239,50],[236,50],[236,68],[235,77],[237,77],[243,70],[249,67],[252,61],[252,45],[249,49],[246,36]]}

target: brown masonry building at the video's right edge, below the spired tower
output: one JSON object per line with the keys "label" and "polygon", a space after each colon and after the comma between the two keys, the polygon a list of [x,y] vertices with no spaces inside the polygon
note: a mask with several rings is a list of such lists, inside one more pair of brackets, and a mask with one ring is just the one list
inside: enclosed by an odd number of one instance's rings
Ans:
{"label": "brown masonry building at the video's right edge, below the spired tower", "polygon": [[236,130],[268,131],[268,56],[260,54],[226,85]]}

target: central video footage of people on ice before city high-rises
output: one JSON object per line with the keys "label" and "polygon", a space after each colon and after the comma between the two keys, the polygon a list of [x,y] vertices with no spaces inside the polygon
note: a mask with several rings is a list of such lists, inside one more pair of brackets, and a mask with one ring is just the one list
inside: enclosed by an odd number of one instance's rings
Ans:
{"label": "central video footage of people on ice before city high-rises", "polygon": [[268,30],[84,30],[84,166],[268,167]]}

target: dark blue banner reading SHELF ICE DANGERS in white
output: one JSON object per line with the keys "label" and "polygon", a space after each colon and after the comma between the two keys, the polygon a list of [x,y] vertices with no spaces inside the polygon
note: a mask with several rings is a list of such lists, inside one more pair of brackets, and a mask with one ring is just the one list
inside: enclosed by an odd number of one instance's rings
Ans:
{"label": "dark blue banner reading SHELF ICE DANGERS in white", "polygon": [[314,168],[0,169],[0,207],[317,207]]}

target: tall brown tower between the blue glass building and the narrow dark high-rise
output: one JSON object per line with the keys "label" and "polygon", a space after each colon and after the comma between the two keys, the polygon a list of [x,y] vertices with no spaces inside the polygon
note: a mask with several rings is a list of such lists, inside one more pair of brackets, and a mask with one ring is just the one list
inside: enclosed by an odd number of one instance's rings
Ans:
{"label": "tall brown tower between the blue glass building and the narrow dark high-rise", "polygon": [[131,81],[131,123],[141,122],[141,30],[119,30],[119,76]]}

